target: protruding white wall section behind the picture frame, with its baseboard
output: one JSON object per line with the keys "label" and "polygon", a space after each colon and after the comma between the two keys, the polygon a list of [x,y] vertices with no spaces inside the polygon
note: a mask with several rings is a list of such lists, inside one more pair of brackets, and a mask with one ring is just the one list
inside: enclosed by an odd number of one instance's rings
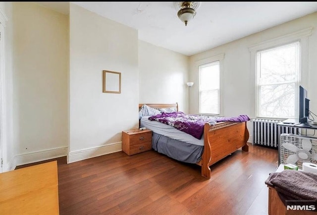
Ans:
{"label": "protruding white wall section behind the picture frame, with its baseboard", "polygon": [[[69,154],[79,161],[121,151],[138,125],[138,32],[70,4]],[[121,94],[102,92],[102,72],[121,72]]]}

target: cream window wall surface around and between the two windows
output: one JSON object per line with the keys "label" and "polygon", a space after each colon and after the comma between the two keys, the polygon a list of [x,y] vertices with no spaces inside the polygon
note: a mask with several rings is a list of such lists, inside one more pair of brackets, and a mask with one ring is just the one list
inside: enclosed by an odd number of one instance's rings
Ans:
{"label": "cream window wall surface around and between the two windows", "polygon": [[[206,52],[190,57],[190,79],[198,83],[199,68],[196,61],[212,57],[217,54],[224,55],[223,78],[223,111],[225,116],[248,114],[251,117],[253,101],[251,99],[251,53],[249,47],[266,40],[274,39],[305,28],[314,27],[313,34],[309,37],[309,84],[308,96],[311,99],[311,109],[317,112],[317,94],[314,89],[317,83],[317,13],[266,29],[262,32],[247,36],[231,43],[216,47]],[[190,112],[199,111],[199,88],[194,85],[190,94]]]}

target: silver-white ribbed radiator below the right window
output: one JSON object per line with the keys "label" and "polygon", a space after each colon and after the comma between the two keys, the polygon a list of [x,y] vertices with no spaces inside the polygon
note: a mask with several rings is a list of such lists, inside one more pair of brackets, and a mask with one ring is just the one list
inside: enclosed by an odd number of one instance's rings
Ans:
{"label": "silver-white ribbed radiator below the right window", "polygon": [[297,130],[288,126],[277,126],[281,121],[253,119],[252,144],[277,148],[280,134],[297,134]]}

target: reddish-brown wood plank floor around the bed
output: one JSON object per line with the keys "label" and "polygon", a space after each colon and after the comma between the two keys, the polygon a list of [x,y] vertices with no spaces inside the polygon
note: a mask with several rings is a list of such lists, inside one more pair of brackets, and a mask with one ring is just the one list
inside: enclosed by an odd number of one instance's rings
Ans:
{"label": "reddish-brown wood plank floor around the bed", "polygon": [[211,166],[210,180],[199,166],[155,151],[69,164],[60,158],[60,215],[267,215],[264,181],[277,168],[277,156],[260,146],[238,150]]}

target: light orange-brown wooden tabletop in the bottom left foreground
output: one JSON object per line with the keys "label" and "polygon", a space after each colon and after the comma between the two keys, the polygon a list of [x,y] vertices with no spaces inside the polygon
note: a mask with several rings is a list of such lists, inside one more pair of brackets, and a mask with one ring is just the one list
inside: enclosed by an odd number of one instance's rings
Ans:
{"label": "light orange-brown wooden tabletop in the bottom left foreground", "polygon": [[1,215],[58,215],[57,161],[0,173]]}

